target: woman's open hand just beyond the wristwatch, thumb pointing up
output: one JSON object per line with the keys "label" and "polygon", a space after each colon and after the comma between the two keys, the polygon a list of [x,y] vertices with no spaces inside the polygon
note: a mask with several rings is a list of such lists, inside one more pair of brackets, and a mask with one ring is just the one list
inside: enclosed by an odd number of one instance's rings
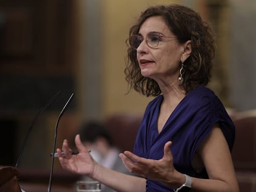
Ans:
{"label": "woman's open hand just beyond the wristwatch, thumb pointing up", "polygon": [[126,165],[127,169],[140,175],[141,177],[150,178],[168,186],[176,186],[177,178],[181,173],[173,167],[173,154],[171,153],[171,141],[164,144],[164,155],[160,160],[145,159],[136,156],[130,151],[124,151],[119,156]]}

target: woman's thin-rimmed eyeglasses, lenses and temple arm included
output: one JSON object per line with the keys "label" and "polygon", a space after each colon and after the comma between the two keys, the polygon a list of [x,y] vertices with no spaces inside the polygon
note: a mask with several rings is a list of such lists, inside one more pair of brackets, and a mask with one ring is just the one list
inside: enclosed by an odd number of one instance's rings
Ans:
{"label": "woman's thin-rimmed eyeglasses, lenses and temple arm included", "polygon": [[[177,39],[176,36],[164,36],[164,35],[161,35],[161,33],[159,33],[159,32],[150,32],[146,36],[145,40],[146,40],[147,45],[150,48],[156,48],[158,46],[159,42],[163,41],[163,38]],[[141,35],[132,35],[129,38],[130,46],[133,49],[138,49],[143,40],[144,40],[144,38]]]}

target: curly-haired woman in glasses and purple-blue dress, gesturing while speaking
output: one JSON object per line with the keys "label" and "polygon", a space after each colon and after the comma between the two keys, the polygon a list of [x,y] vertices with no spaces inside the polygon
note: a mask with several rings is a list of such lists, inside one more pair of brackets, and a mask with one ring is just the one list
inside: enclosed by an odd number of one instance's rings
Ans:
{"label": "curly-haired woman in glasses and purple-blue dress, gesturing while speaking", "polygon": [[215,54],[207,23],[180,6],[149,7],[130,28],[126,80],[147,106],[134,153],[119,154],[124,175],[96,164],[82,145],[59,161],[117,191],[239,191],[231,149],[234,125],[215,94],[205,88]]}

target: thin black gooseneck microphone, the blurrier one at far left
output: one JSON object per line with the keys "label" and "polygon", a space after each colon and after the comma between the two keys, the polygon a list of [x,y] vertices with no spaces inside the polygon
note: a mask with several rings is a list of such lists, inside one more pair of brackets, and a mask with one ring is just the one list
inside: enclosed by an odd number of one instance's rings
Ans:
{"label": "thin black gooseneck microphone, the blurrier one at far left", "polygon": [[33,125],[35,124],[35,121],[37,119],[37,117],[43,112],[45,111],[45,109],[51,104],[51,102],[53,102],[56,98],[58,98],[59,94],[61,93],[61,91],[58,91],[54,96],[53,98],[51,98],[51,100],[44,106],[40,109],[40,111],[38,111],[38,113],[35,115],[30,127],[28,128],[28,131],[27,131],[27,135],[25,136],[25,140],[23,141],[23,144],[22,144],[22,148],[20,149],[20,152],[19,152],[19,156],[17,158],[17,161],[16,161],[16,164],[15,164],[15,168],[17,168],[18,164],[19,164],[19,161],[20,161],[20,157],[22,156],[22,153],[23,153],[23,150],[25,148],[25,145],[27,144],[27,141],[28,141],[28,137],[30,136],[30,133],[32,131],[32,128],[33,128]]}

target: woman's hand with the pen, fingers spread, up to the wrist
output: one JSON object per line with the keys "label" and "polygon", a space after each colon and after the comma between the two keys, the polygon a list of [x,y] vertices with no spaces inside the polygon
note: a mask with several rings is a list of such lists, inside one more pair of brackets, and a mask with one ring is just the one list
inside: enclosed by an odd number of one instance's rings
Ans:
{"label": "woman's hand with the pen, fingers spread, up to the wrist", "polygon": [[[96,161],[93,160],[90,152],[85,146],[83,146],[80,135],[75,136],[75,145],[79,151],[77,155],[71,155],[69,144],[67,140],[63,141],[62,151],[61,149],[57,149],[59,155],[59,162],[64,170],[73,173],[79,173],[83,175],[88,175],[88,177],[92,177],[95,167],[97,165]],[[61,152],[64,152],[66,156],[62,156]]]}

